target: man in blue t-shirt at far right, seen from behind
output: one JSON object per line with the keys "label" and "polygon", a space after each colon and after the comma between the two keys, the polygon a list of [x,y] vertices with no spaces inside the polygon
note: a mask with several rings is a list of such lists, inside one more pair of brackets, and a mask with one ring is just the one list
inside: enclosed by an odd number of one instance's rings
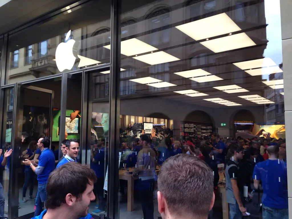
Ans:
{"label": "man in blue t-shirt at far right, seen from behind", "polygon": [[256,164],[253,170],[253,184],[257,189],[263,186],[263,219],[288,219],[287,164],[279,160],[279,147],[267,148],[269,159]]}

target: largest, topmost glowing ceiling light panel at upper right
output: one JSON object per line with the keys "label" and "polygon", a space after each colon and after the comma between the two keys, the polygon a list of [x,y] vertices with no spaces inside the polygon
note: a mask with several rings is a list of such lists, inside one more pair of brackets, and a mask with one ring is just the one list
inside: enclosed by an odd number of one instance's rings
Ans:
{"label": "largest, topmost glowing ceiling light panel at upper right", "polygon": [[176,28],[194,40],[206,39],[241,30],[226,13],[189,22],[176,26]]}

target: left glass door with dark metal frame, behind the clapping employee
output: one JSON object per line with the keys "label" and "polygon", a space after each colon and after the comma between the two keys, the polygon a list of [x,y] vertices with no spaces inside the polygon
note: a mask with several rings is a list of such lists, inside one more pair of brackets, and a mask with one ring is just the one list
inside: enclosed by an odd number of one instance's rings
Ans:
{"label": "left glass door with dark metal frame, behind the clapping employee", "polygon": [[[33,216],[37,180],[35,173],[29,173],[30,169],[22,163],[23,154],[27,148],[36,150],[41,136],[52,139],[53,100],[52,90],[18,83],[14,86],[8,218]],[[26,180],[27,187],[24,186]]]}

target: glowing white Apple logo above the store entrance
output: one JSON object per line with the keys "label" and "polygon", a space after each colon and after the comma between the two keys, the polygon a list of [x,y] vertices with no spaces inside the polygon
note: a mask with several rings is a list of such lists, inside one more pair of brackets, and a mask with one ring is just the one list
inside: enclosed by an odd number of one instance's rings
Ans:
{"label": "glowing white Apple logo above the store entrance", "polygon": [[[71,30],[66,34],[65,41],[69,39]],[[74,39],[68,40],[66,43],[60,43],[56,49],[55,60],[60,72],[65,69],[71,70],[76,57],[77,57],[77,45]]]}

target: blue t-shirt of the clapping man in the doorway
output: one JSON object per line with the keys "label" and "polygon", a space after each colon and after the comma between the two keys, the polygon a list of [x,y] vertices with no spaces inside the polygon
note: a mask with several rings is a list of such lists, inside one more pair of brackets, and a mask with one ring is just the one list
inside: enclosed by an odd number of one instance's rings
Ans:
{"label": "blue t-shirt of the clapping man in the doorway", "polygon": [[46,183],[50,173],[55,169],[55,156],[52,150],[45,148],[41,155],[39,155],[39,166],[43,166],[44,169],[39,175],[37,180],[40,184]]}

